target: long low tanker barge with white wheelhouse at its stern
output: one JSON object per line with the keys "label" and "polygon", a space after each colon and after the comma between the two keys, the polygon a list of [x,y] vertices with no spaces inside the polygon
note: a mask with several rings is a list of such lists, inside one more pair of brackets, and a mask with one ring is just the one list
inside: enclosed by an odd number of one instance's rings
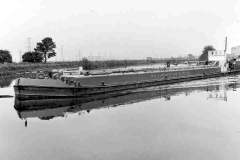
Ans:
{"label": "long low tanker barge with white wheelhouse at its stern", "polygon": [[181,69],[168,66],[166,70],[132,73],[89,75],[88,72],[79,71],[78,73],[84,74],[62,75],[61,79],[19,78],[14,85],[14,91],[18,99],[85,97],[94,94],[221,77],[240,72],[240,59],[227,60],[226,49],[224,51],[209,51],[208,62],[212,63]]}

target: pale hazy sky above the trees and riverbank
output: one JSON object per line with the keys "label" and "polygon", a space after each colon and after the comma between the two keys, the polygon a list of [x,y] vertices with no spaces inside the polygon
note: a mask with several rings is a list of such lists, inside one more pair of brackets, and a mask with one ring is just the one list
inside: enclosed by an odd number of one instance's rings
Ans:
{"label": "pale hazy sky above the trees and riverbank", "polygon": [[239,0],[0,0],[0,49],[14,61],[51,37],[60,60],[199,56],[240,46]]}

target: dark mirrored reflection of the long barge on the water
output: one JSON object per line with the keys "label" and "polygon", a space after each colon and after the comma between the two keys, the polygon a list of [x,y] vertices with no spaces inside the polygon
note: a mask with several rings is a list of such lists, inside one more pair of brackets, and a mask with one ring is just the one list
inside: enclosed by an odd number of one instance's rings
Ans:
{"label": "dark mirrored reflection of the long barge on the water", "polygon": [[165,98],[166,101],[169,101],[172,96],[181,94],[188,96],[194,92],[207,91],[209,92],[207,99],[227,101],[227,90],[235,90],[236,87],[237,85],[225,84],[153,91],[129,91],[67,99],[19,100],[15,98],[14,107],[19,118],[25,120],[25,126],[27,126],[26,119],[28,118],[38,117],[41,120],[50,120],[55,117],[67,117],[69,113],[82,115],[91,113],[93,109],[117,107],[157,98]]}

